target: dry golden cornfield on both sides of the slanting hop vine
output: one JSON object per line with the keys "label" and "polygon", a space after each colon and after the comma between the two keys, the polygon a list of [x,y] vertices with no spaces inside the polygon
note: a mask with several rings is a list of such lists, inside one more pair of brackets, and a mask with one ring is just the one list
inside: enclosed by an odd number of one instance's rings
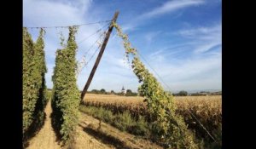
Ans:
{"label": "dry golden cornfield on both sides of the slanting hop vine", "polygon": [[[174,99],[177,114],[184,117],[184,122],[195,132],[197,138],[218,142],[218,146],[221,146],[222,96],[176,96]],[[149,113],[143,100],[143,97],[139,96],[87,94],[84,98],[84,106],[102,108],[113,114],[129,112],[135,119],[140,116],[147,119]]]}

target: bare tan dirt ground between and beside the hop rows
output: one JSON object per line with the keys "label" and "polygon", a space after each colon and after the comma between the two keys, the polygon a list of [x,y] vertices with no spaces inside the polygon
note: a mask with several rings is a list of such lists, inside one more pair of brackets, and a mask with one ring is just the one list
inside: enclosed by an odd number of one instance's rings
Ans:
{"label": "bare tan dirt ground between and beside the hop rows", "polygon": [[[50,114],[52,112],[50,101],[45,108],[46,119],[43,128],[29,140],[27,149],[59,149],[60,142],[56,139],[52,129]],[[100,126],[101,125],[101,126]],[[107,123],[101,123],[98,119],[80,113],[79,126],[74,142],[76,149],[149,149],[162,148],[154,143],[143,140],[135,135],[115,129]]]}

